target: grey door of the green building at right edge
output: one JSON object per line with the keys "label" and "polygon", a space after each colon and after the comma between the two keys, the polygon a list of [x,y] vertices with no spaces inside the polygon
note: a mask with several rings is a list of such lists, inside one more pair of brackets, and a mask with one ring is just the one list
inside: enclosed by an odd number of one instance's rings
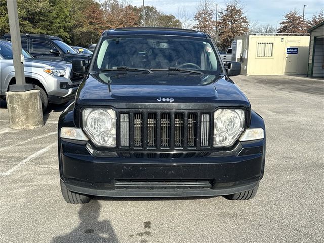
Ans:
{"label": "grey door of the green building at right edge", "polygon": [[324,37],[316,37],[313,53],[313,77],[324,77]]}

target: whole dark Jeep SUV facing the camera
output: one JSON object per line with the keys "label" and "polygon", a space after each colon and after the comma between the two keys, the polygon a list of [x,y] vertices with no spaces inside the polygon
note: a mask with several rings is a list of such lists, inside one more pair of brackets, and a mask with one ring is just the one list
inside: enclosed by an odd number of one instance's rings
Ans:
{"label": "whole dark Jeep SUV facing the camera", "polygon": [[265,125],[205,33],[105,31],[58,125],[61,190],[91,196],[254,197],[263,177]]}

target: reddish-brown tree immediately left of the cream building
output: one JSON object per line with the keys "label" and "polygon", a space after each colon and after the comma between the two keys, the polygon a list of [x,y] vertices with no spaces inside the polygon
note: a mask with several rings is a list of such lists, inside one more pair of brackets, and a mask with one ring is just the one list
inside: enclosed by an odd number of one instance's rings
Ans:
{"label": "reddish-brown tree immediately left of the cream building", "polygon": [[218,26],[218,41],[222,49],[231,46],[236,36],[249,31],[249,22],[239,0],[226,3],[225,9],[220,10]]}

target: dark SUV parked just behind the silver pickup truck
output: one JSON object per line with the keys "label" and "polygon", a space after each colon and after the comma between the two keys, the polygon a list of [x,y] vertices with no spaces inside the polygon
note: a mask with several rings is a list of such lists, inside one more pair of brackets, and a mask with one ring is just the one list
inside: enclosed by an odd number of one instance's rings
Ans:
{"label": "dark SUV parked just behind the silver pickup truck", "polygon": [[[5,34],[2,38],[11,40],[10,34]],[[21,34],[21,46],[33,57],[46,60],[72,62],[74,58],[82,58],[89,62],[92,56],[77,53],[61,38],[45,34]]]}

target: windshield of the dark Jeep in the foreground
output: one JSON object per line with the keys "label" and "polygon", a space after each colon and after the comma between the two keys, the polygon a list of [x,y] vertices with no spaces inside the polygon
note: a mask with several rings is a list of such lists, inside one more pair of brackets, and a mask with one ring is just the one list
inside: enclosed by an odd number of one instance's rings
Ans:
{"label": "windshield of the dark Jeep in the foreground", "polygon": [[220,74],[215,50],[207,39],[178,36],[126,36],[101,42],[94,71],[117,67],[198,70]]}

